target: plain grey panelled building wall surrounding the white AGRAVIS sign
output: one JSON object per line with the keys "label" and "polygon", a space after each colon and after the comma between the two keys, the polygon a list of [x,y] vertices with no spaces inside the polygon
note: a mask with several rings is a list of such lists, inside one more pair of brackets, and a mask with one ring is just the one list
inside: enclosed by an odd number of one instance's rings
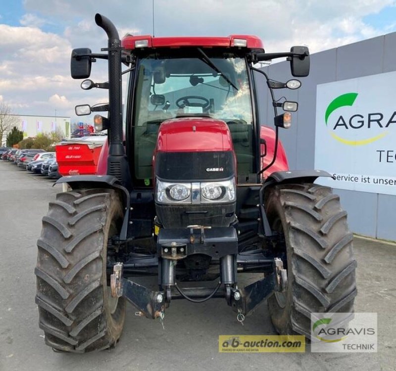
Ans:
{"label": "plain grey panelled building wall surrounding the white AGRAVIS sign", "polygon": [[[270,78],[286,81],[290,78],[289,62],[274,63],[264,69]],[[286,148],[290,168],[313,168],[315,151],[316,87],[327,82],[391,72],[396,70],[396,33],[376,37],[359,43],[331,49],[311,55],[311,70],[301,78],[302,87],[297,91],[298,112],[293,113],[293,125],[280,130],[280,138]],[[278,93],[282,93],[279,95]],[[276,92],[296,99],[296,92]],[[272,124],[273,111],[269,96],[266,116]],[[396,240],[394,222],[396,196],[376,193],[335,190],[348,212],[350,229],[365,236]]]}

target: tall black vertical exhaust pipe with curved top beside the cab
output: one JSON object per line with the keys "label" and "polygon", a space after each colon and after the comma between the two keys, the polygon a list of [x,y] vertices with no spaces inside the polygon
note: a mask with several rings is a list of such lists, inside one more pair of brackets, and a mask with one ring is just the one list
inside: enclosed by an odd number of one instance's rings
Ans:
{"label": "tall black vertical exhaust pipe with curved top beside the cab", "polygon": [[105,16],[97,13],[96,24],[107,34],[108,82],[109,82],[109,154],[107,174],[115,176],[124,187],[131,188],[131,175],[125,156],[122,132],[122,79],[121,79],[121,41],[114,24]]}

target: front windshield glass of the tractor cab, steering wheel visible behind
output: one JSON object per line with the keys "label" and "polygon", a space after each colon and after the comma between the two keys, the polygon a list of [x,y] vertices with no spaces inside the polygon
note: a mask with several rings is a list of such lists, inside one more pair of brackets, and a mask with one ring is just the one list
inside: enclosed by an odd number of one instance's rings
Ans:
{"label": "front windshield glass of the tractor cab, steering wheel visible behind", "polygon": [[179,54],[148,54],[138,64],[133,116],[135,177],[145,179],[146,185],[152,177],[152,152],[159,124],[190,115],[224,120],[237,159],[249,156],[247,168],[241,163],[238,173],[251,172],[253,118],[246,61],[233,53],[207,59],[205,53],[196,55],[185,58]]}

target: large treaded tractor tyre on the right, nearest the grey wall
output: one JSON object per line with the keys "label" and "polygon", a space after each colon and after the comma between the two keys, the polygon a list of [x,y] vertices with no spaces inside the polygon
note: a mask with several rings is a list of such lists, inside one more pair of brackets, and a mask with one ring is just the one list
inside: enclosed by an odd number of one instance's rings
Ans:
{"label": "large treaded tractor tyre on the right, nearest the grey wall", "polygon": [[[353,235],[339,196],[317,184],[277,185],[267,191],[266,212],[282,233],[288,287],[268,298],[272,323],[280,334],[310,338],[310,314],[353,312],[357,294]],[[284,262],[285,264],[286,262]]]}

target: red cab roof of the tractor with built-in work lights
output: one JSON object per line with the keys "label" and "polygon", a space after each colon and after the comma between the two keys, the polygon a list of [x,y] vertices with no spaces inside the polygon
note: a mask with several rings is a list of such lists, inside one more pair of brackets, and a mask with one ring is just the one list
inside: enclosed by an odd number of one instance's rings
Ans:
{"label": "red cab roof of the tractor with built-in work lights", "polygon": [[257,36],[230,35],[228,37],[152,37],[151,35],[126,35],[121,41],[127,50],[141,48],[231,48],[254,49],[263,53],[262,41]]}

